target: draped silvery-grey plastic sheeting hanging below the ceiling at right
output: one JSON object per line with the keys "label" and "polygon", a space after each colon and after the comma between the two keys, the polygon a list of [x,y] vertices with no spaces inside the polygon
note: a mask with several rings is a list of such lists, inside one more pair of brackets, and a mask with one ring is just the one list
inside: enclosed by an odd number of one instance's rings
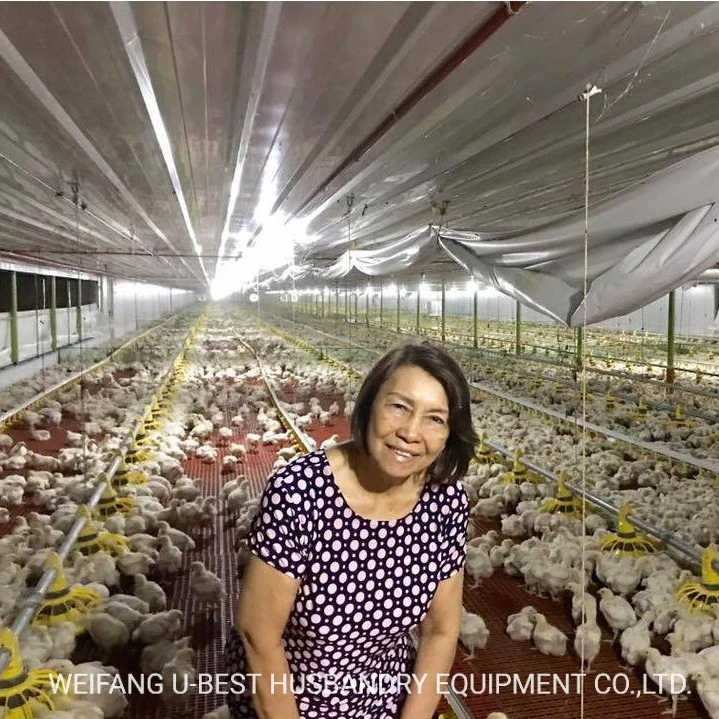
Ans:
{"label": "draped silvery-grey plastic sheeting hanging below the ceiling at right", "polygon": [[419,230],[372,250],[348,251],[317,274],[392,274],[428,264],[441,248],[473,277],[528,307],[566,325],[593,324],[642,307],[714,265],[716,203],[719,149],[712,148],[590,206],[584,303],[583,209],[508,237]]}

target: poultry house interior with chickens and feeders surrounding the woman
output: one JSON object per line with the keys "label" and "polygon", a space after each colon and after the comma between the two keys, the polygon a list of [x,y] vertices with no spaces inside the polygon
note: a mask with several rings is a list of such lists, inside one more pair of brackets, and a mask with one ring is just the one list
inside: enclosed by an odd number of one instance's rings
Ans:
{"label": "poultry house interior with chickens and feeders surrounding the woman", "polygon": [[719,719],[717,29],[0,2],[0,719],[239,716],[268,479],[410,340],[478,437],[433,719]]}

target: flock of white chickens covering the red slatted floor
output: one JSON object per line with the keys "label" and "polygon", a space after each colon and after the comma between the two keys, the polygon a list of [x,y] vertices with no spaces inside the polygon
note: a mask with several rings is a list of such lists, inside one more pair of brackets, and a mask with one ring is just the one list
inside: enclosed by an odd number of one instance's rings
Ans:
{"label": "flock of white chickens covering the red slatted floor", "polygon": [[[179,346],[186,329],[167,329],[164,337],[153,340],[152,347]],[[264,358],[276,392],[291,396],[283,409],[296,426],[332,425],[336,415],[351,412],[356,380],[333,367],[318,366],[266,333],[244,330],[243,335]],[[91,385],[76,384],[36,412],[26,413],[25,430],[35,433],[36,447],[57,433],[65,434],[66,447],[59,452],[30,450],[13,438],[13,432],[0,435],[0,506],[4,509],[0,521],[13,523],[0,539],[0,580],[5,580],[6,587],[0,596],[3,623],[9,622],[25,585],[59,546],[77,507],[89,499],[93,479],[142,414],[167,367],[167,353],[157,349],[148,347],[143,360],[129,368],[108,367]],[[489,429],[508,446],[522,447],[539,463],[555,471],[574,464],[575,438],[558,432],[554,425],[489,400],[475,405],[473,411],[479,428]],[[68,421],[74,421],[78,431],[60,427]],[[334,435],[328,442],[337,439]],[[177,695],[172,687],[183,680],[192,683],[197,656],[190,637],[183,636],[187,617],[168,606],[162,585],[168,586],[168,578],[187,574],[198,608],[215,611],[230,601],[227,578],[192,559],[196,545],[208,532],[216,531],[220,521],[233,525],[241,569],[249,555],[246,536],[261,490],[260,483],[243,471],[248,455],[262,446],[273,446],[275,467],[280,467],[299,450],[272,406],[259,368],[228,333],[222,316],[214,317],[198,335],[197,350],[171,417],[150,434],[149,442],[150,458],[133,465],[146,481],[129,484],[120,492],[132,500],[132,508],[125,515],[97,521],[99,529],[124,535],[129,549],[117,557],[105,552],[76,555],[65,574],[70,584],[85,584],[102,597],[83,620],[102,662],[111,661],[125,647],[142,647],[142,671],[162,676],[161,699],[177,707],[187,697]],[[695,477],[689,485],[680,470],[668,463],[663,466],[639,457],[628,460],[625,451],[606,440],[587,440],[586,450],[591,467],[588,488],[617,503],[631,499],[638,514],[683,532],[692,542],[714,541],[719,520],[710,510],[710,497],[716,495],[716,488],[708,478]],[[185,474],[185,462],[193,459],[217,465],[226,480],[219,496],[208,495],[200,481]],[[501,525],[501,534],[474,536],[474,529],[470,531],[468,579],[479,584],[501,569],[523,581],[530,593],[556,599],[570,593],[576,623],[574,650],[586,668],[599,650],[602,635],[597,622],[603,620],[614,631],[627,664],[644,666],[655,680],[662,672],[681,673],[688,687],[696,687],[712,719],[719,717],[719,616],[687,614],[674,600],[677,587],[690,573],[663,552],[641,558],[603,554],[599,544],[609,530],[601,517],[589,515],[582,524],[543,512],[547,487],[503,481],[506,470],[497,462],[477,464],[465,479],[473,513],[487,519],[498,517]],[[688,504],[686,509],[678,496]],[[19,505],[32,505],[35,511],[14,517]],[[565,654],[570,641],[531,606],[507,617],[506,631],[512,640],[531,641],[549,656]],[[654,648],[656,637],[667,638],[671,653]],[[470,656],[489,641],[482,618],[464,611],[461,642]],[[51,667],[64,674],[116,672],[102,662],[75,665],[70,661],[75,649],[71,623],[33,626],[20,637],[20,646],[28,668]],[[663,688],[670,687],[665,682]],[[672,700],[676,708],[677,696]],[[126,706],[122,693],[100,690],[82,697],[62,696],[56,710],[44,716],[101,719],[122,716]],[[37,716],[41,714],[39,708]],[[227,708],[219,707],[206,719],[226,716]],[[493,719],[501,716],[493,715]]]}

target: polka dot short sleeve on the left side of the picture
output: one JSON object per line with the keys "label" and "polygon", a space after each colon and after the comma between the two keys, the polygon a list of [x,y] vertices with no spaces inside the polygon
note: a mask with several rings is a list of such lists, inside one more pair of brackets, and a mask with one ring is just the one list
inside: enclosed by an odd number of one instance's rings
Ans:
{"label": "polka dot short sleeve on the left side of the picture", "polygon": [[311,498],[302,462],[273,474],[250,529],[250,551],[274,569],[301,579],[307,568]]}

